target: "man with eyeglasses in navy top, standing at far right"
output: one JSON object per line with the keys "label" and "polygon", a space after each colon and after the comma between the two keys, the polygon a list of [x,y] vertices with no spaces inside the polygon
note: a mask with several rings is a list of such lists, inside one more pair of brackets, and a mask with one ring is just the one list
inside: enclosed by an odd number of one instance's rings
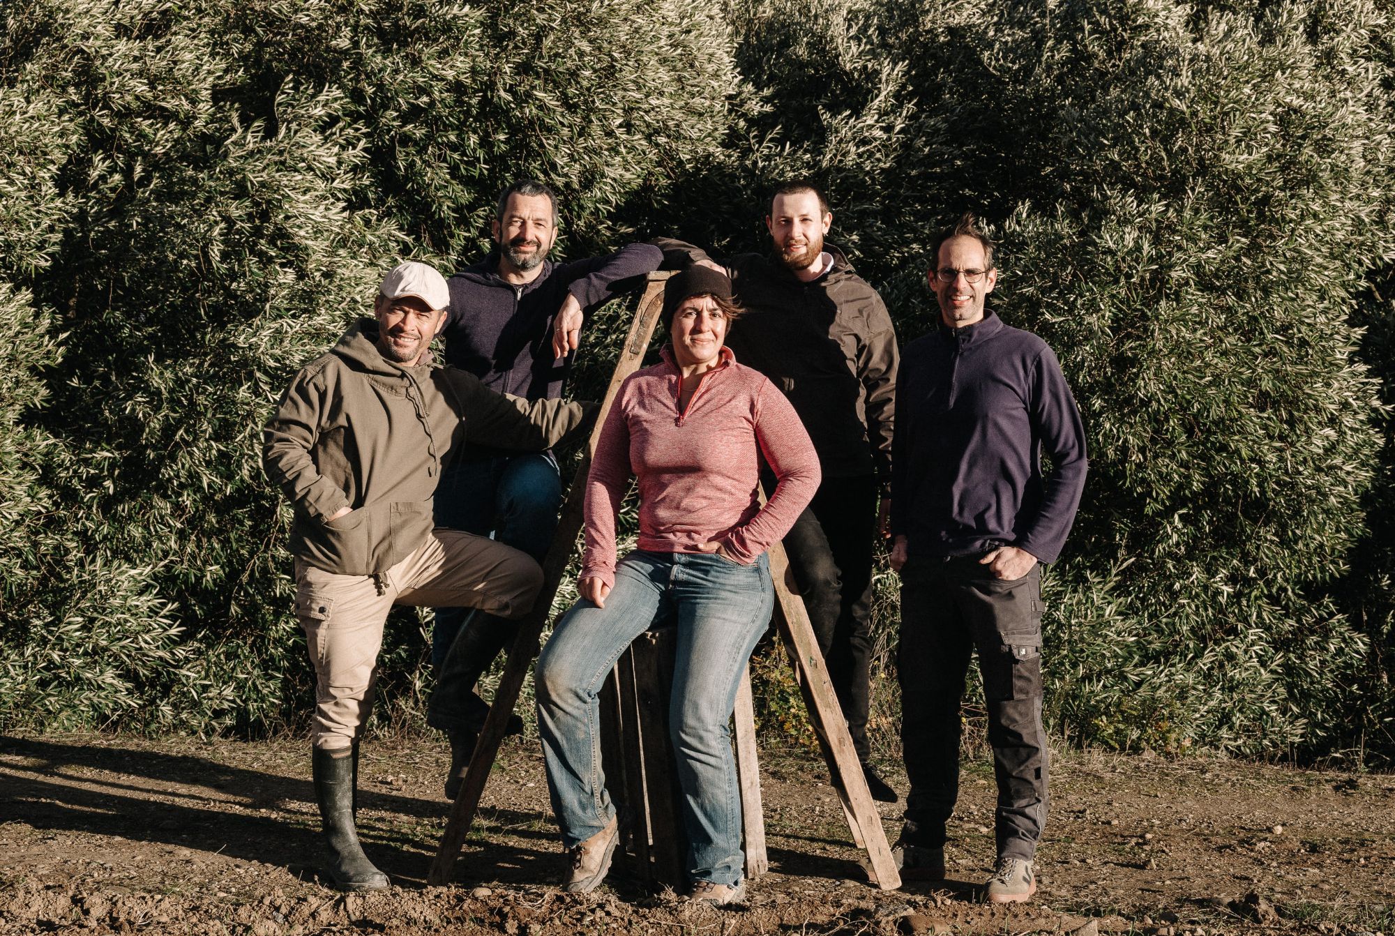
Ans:
{"label": "man with eyeglasses in navy top, standing at far right", "polygon": [[[960,703],[978,651],[997,778],[992,903],[1036,891],[1046,820],[1041,565],[1085,483],[1080,412],[1060,364],[985,299],[993,244],[971,215],[935,241],[940,325],[905,347],[891,446],[891,566],[901,573],[901,745],[911,784],[896,844],[907,880],[944,877],[958,798]],[[1052,471],[1043,474],[1042,455]]]}

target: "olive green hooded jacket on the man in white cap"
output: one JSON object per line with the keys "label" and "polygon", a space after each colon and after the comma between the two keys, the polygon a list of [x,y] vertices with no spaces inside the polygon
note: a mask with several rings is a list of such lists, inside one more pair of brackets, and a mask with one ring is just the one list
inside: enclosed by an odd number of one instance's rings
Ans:
{"label": "olive green hooded jacket on the man in white cap", "polygon": [[497,393],[430,353],[396,364],[377,340],[378,324],[360,319],[301,368],[262,431],[262,467],[294,508],[292,554],[340,575],[386,572],[425,541],[452,449],[543,452],[596,409]]}

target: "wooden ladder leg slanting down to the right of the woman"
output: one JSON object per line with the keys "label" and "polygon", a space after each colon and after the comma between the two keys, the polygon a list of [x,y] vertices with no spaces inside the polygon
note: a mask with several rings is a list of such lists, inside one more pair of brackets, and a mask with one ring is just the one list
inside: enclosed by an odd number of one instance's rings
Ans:
{"label": "wooden ladder leg slanting down to the right of the woman", "polygon": [[819,643],[813,636],[813,625],[809,624],[804,598],[794,594],[787,584],[790,559],[785,557],[784,545],[776,543],[770,547],[769,555],[770,578],[774,580],[776,600],[783,611],[783,614],[776,615],[780,636],[785,642],[790,663],[795,668],[795,681],[799,684],[804,704],[813,720],[813,730],[831,755],[830,767],[836,780],[841,783],[840,798],[843,799],[844,816],[848,819],[848,830],[852,833],[854,843],[868,854],[872,883],[882,890],[896,890],[901,886],[901,873],[891,858],[891,848],[887,845],[886,831],[882,829],[882,816],[872,802],[866,777],[862,776],[862,764],[857,750],[852,749],[848,723],[843,717],[838,697],[833,692],[833,682],[829,679],[823,654],[819,653]]}

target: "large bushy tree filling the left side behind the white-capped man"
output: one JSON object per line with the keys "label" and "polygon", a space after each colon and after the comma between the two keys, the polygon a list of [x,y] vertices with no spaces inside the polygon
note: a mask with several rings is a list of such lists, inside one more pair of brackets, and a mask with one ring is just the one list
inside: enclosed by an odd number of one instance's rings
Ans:
{"label": "large bushy tree filling the left side behind the white-capped man", "polygon": [[[0,534],[0,720],[215,731],[304,709],[261,424],[388,266],[473,259],[505,181],[557,181],[585,247],[718,148],[731,75],[699,13],[6,6],[0,299],[33,338],[6,352],[0,416],[28,435],[0,483],[6,519],[56,538]],[[420,682],[418,650],[391,643],[384,682]]]}

